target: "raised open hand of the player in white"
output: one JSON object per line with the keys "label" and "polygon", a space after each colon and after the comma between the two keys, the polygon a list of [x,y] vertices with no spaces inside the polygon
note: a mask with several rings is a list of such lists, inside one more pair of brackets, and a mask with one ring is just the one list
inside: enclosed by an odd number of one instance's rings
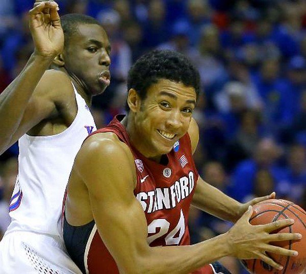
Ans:
{"label": "raised open hand of the player in white", "polygon": [[43,57],[56,57],[64,47],[58,4],[54,1],[37,1],[29,14],[35,53]]}

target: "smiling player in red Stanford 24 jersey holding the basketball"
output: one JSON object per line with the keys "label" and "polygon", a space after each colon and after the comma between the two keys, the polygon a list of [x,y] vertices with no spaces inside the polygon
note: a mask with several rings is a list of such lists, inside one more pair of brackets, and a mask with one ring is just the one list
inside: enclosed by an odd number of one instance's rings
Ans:
{"label": "smiling player in red Stanford 24 jersey holding the basketball", "polygon": [[[175,52],[148,53],[131,68],[127,89],[127,115],[85,140],[69,178],[64,240],[82,272],[225,274],[212,263],[223,256],[260,258],[280,268],[265,252],[294,252],[269,242],[300,235],[269,232],[293,220],[248,222],[250,205],[275,193],[240,204],[198,176],[192,112],[199,76],[191,63]],[[189,245],[191,204],[236,225]]]}

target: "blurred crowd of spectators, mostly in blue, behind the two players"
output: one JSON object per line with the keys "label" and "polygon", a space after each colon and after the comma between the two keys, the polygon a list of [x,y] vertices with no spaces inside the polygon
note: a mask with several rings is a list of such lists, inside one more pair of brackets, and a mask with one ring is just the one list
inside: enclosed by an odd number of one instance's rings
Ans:
{"label": "blurred crowd of spectators, mostly in blue, behind the two players", "polygon": [[[97,127],[124,112],[131,64],[150,49],[172,49],[198,68],[194,117],[202,177],[240,202],[276,191],[306,208],[306,2],[303,0],[58,0],[60,14],[98,19],[111,44],[112,83],[93,100]],[[0,92],[33,52],[33,0],[1,0]],[[18,146],[0,156],[0,238],[17,174]],[[193,242],[231,226],[196,209]],[[234,259],[223,263],[245,273]]]}

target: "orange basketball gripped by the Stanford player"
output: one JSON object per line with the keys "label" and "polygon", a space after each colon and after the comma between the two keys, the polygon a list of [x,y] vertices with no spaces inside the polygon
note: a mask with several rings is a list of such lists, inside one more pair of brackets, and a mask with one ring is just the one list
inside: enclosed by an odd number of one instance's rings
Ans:
{"label": "orange basketball gripped by the Stanford player", "polygon": [[253,206],[251,225],[265,225],[276,220],[294,219],[290,227],[273,233],[300,233],[299,240],[279,241],[274,245],[295,250],[298,256],[289,257],[269,253],[268,255],[284,268],[278,270],[259,259],[242,260],[242,264],[253,274],[299,274],[306,268],[306,212],[299,206],[286,200],[267,200]]}

